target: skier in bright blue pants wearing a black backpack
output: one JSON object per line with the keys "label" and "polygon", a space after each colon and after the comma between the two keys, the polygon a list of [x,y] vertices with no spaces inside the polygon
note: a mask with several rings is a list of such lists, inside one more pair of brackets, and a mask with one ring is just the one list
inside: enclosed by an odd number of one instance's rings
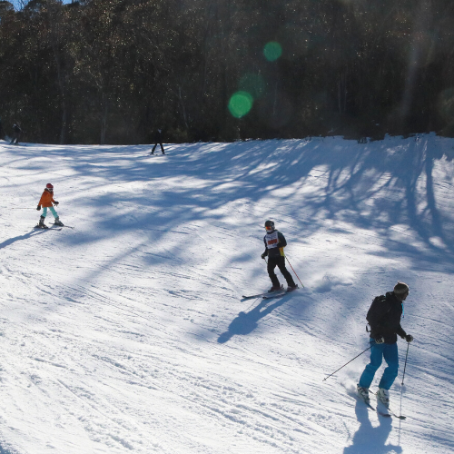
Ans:
{"label": "skier in bright blue pants wearing a black backpack", "polygon": [[366,316],[370,324],[370,364],[362,372],[357,385],[358,394],[369,402],[369,388],[375,372],[380,368],[382,358],[388,364],[383,371],[379,383],[377,397],[385,404],[390,404],[390,387],[397,377],[399,369],[399,355],[397,348],[397,334],[407,342],[413,337],[403,331],[400,326],[400,317],[403,313],[403,301],[409,296],[409,286],[398,282],[393,291],[386,295],[377,296],[370,306]]}

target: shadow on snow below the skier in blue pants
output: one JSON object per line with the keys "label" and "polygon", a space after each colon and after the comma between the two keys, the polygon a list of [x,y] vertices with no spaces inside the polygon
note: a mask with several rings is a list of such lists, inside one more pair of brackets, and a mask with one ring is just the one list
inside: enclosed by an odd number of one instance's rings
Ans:
{"label": "shadow on snow below the skier in blue pants", "polygon": [[392,419],[379,417],[380,425],[373,427],[370,423],[370,410],[359,400],[355,407],[356,418],[360,428],[354,434],[352,444],[343,450],[343,454],[386,454],[402,452],[400,446],[386,444],[392,430]]}

